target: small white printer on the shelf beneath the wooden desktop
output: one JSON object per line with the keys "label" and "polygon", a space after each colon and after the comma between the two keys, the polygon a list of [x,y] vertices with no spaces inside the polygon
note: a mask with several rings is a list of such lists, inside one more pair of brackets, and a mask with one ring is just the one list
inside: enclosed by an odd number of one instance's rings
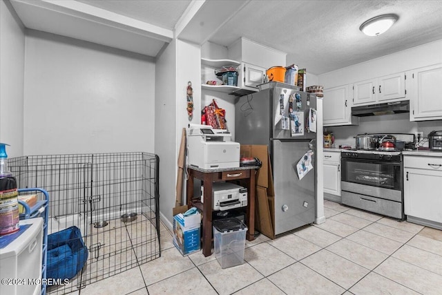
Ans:
{"label": "small white printer on the shelf beneath the wooden desktop", "polygon": [[[212,188],[214,211],[247,206],[247,188],[230,182],[213,182]],[[204,203],[204,186],[201,187],[201,202]]]}

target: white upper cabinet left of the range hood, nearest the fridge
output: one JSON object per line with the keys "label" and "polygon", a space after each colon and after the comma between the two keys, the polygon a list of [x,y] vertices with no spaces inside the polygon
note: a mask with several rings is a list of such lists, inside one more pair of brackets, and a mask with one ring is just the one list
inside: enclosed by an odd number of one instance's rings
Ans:
{"label": "white upper cabinet left of the range hood, nearest the fridge", "polygon": [[324,89],[324,126],[358,124],[358,118],[352,116],[351,90],[351,84]]}

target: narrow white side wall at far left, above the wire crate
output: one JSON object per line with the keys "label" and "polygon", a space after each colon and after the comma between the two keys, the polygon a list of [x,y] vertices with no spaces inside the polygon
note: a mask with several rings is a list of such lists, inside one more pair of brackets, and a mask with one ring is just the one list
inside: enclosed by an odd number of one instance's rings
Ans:
{"label": "narrow white side wall at far left, above the wire crate", "polygon": [[23,155],[23,24],[8,1],[0,1],[0,142],[9,158]]}

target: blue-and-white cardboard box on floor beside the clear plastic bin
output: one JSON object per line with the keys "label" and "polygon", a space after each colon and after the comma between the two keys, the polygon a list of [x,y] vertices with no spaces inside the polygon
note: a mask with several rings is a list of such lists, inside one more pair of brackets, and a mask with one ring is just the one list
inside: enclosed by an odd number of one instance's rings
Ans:
{"label": "blue-and-white cardboard box on floor beside the clear plastic bin", "polygon": [[201,247],[201,214],[173,216],[173,245],[184,255],[199,251]]}

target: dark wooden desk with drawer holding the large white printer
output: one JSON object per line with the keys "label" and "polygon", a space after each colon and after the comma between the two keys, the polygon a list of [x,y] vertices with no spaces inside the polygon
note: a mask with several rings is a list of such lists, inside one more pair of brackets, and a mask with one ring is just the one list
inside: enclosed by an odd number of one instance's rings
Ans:
{"label": "dark wooden desk with drawer holding the large white printer", "polygon": [[[197,207],[202,211],[202,254],[211,255],[212,242],[212,184],[226,180],[247,181],[247,240],[254,240],[255,233],[255,172],[259,166],[248,166],[227,169],[200,169],[187,166],[189,179],[187,180],[187,205]],[[204,182],[204,203],[200,199],[193,199],[193,178]]]}

